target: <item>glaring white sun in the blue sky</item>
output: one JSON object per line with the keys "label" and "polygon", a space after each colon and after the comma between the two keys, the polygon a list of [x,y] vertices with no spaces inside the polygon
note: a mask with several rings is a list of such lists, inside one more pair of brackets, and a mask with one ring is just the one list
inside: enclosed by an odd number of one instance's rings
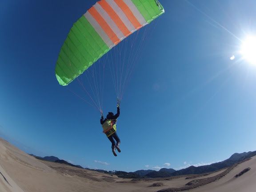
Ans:
{"label": "glaring white sun in the blue sky", "polygon": [[256,65],[256,36],[248,36],[243,41],[240,52],[244,60]]}

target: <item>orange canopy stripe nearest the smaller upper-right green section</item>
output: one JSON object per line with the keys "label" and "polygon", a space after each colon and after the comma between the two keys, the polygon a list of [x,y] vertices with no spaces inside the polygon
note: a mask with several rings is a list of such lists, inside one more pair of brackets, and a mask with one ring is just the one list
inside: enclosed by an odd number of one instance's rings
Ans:
{"label": "orange canopy stripe nearest the smaller upper-right green section", "polygon": [[136,28],[139,29],[142,27],[142,25],[140,24],[140,22],[137,20],[136,16],[133,15],[131,9],[128,7],[127,4],[124,3],[123,0],[114,0],[116,2],[116,4],[118,5],[118,7],[120,7],[120,9],[122,9],[122,11],[124,12],[124,14],[127,16],[128,20],[130,20],[130,22],[132,23],[132,25]]}

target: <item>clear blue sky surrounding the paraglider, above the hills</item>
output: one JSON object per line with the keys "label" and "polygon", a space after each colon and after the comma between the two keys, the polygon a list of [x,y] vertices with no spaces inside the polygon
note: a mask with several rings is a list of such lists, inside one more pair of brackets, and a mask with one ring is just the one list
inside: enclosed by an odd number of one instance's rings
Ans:
{"label": "clear blue sky surrounding the paraglider, above the hills", "polygon": [[[60,86],[54,71],[72,24],[95,2],[1,0],[2,137],[38,156],[123,171],[178,169],[256,150],[256,67],[238,53],[256,32],[254,0],[160,1],[165,14],[152,24],[121,102],[117,157],[100,113]],[[116,110],[106,82],[104,114]],[[79,92],[75,83],[70,88]]]}

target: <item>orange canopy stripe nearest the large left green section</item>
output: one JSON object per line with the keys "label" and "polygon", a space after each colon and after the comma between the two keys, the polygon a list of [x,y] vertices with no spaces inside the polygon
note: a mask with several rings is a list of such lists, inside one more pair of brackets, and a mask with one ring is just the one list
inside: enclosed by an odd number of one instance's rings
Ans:
{"label": "orange canopy stripe nearest the large left green section", "polygon": [[93,16],[93,18],[100,24],[100,27],[104,30],[104,32],[108,35],[108,37],[112,40],[113,44],[120,43],[120,39],[116,36],[116,33],[113,32],[108,23],[104,20],[104,18],[100,15],[100,13],[96,10],[96,8],[92,7],[88,10],[88,12]]}

